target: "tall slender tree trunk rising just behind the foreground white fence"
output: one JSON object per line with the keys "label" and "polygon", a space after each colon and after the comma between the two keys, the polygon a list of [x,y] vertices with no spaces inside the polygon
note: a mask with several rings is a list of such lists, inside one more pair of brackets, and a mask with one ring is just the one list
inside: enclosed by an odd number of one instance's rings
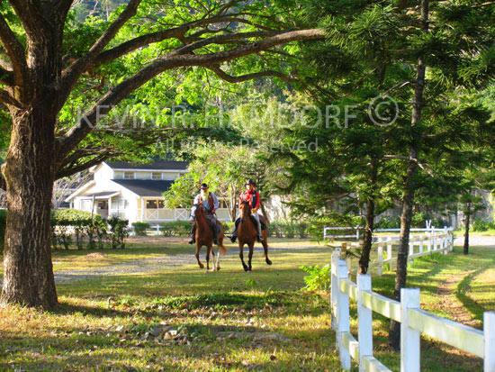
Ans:
{"label": "tall slender tree trunk rising just behind the foreground white fence", "polygon": [[[428,13],[429,0],[421,0],[421,31],[428,32]],[[418,172],[418,143],[415,140],[414,129],[416,124],[421,121],[423,109],[423,93],[425,90],[426,64],[424,56],[419,56],[418,68],[416,70],[416,86],[414,89],[414,99],[412,102],[411,115],[411,141],[409,149],[410,161],[406,175],[404,195],[402,197],[402,215],[401,215],[401,237],[399,251],[397,253],[397,272],[395,275],[394,297],[401,301],[401,288],[406,286],[408,275],[408,255],[410,243],[410,223],[412,221],[412,211],[414,207],[414,194],[416,192],[415,177]],[[389,332],[389,344],[392,349],[400,349],[401,346],[401,323],[391,322]]]}

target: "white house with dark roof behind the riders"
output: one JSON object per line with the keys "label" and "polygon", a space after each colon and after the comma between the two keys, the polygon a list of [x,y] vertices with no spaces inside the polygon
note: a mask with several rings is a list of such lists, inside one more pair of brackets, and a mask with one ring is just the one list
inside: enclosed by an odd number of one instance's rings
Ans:
{"label": "white house with dark roof behind the riders", "polygon": [[[103,218],[116,215],[129,223],[187,220],[189,208],[165,208],[162,197],[177,177],[187,173],[187,164],[186,161],[163,160],[149,164],[105,161],[90,168],[94,179],[77,188],[66,202],[71,208],[93,211]],[[222,200],[217,217],[229,221],[229,212]]]}

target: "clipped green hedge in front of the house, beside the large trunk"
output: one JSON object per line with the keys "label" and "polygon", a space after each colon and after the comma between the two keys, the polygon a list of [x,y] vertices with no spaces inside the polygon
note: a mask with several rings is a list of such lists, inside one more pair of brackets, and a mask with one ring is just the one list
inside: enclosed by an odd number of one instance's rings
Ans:
{"label": "clipped green hedge in front of the house, beside the large trunk", "polygon": [[129,236],[127,220],[112,216],[103,220],[94,215],[76,209],[63,209],[51,213],[51,246],[54,249],[66,250],[72,244],[78,250],[89,250],[105,247],[113,250],[125,248],[125,238]]}

